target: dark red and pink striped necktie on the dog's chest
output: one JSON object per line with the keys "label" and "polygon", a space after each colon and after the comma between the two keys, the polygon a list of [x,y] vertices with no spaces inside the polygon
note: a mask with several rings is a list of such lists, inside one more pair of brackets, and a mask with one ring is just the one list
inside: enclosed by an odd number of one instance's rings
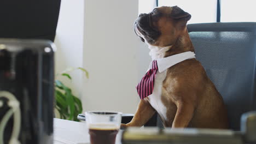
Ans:
{"label": "dark red and pink striped necktie on the dog's chest", "polygon": [[141,82],[139,82],[136,87],[141,99],[153,93],[156,72],[158,72],[158,62],[153,61],[152,68],[142,77]]}

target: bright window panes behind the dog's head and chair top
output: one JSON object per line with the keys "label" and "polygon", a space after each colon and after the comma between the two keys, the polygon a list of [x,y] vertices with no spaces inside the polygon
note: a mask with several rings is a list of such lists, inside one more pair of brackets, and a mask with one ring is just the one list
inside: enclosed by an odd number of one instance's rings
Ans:
{"label": "bright window panes behind the dog's head and chair top", "polygon": [[217,8],[218,22],[256,22],[255,0],[139,0],[139,13],[164,5],[177,5],[191,14],[188,23],[217,22]]}

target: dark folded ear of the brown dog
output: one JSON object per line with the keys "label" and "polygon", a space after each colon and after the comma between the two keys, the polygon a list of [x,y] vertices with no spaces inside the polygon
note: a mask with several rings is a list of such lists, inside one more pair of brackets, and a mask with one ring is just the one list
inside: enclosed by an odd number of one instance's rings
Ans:
{"label": "dark folded ear of the brown dog", "polygon": [[172,7],[171,17],[175,20],[186,20],[189,21],[191,18],[191,15],[181,8],[174,6]]}

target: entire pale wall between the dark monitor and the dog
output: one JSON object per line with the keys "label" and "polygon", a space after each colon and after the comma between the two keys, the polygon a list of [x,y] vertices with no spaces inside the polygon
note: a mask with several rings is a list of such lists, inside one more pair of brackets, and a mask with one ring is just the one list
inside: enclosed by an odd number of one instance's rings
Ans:
{"label": "entire pale wall between the dark monitor and the dog", "polygon": [[136,111],[139,97],[135,87],[150,62],[146,45],[133,31],[137,16],[137,0],[61,2],[55,38],[56,73],[84,67],[89,79],[80,71],[71,73],[72,83],[63,77],[57,79],[73,88],[84,111]]}

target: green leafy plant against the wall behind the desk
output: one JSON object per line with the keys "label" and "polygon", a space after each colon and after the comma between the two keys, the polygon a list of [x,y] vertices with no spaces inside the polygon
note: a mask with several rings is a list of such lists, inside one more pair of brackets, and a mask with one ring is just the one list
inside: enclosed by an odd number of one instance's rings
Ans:
{"label": "green leafy plant against the wall behind the desk", "polygon": [[[62,71],[57,76],[65,76],[69,80],[72,80],[72,77],[69,73],[73,70],[82,70],[85,73],[85,76],[88,78],[88,71],[84,68],[68,68]],[[82,113],[83,106],[81,100],[72,93],[72,89],[67,87],[60,80],[55,80],[55,109],[59,112],[61,119],[68,119],[71,121],[79,121],[77,115]]]}

